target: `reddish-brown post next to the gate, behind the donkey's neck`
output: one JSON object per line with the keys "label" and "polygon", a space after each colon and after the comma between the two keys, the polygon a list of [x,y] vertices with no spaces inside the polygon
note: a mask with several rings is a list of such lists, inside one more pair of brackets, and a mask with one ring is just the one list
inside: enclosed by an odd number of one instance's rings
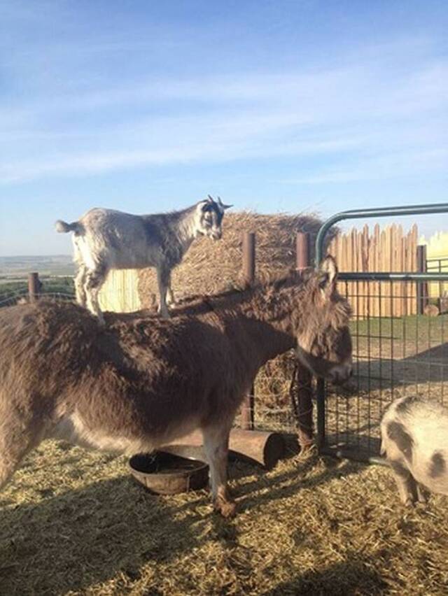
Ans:
{"label": "reddish-brown post next to the gate, behind the donkey's neck", "polygon": [[[297,232],[295,241],[297,249],[295,260],[297,271],[304,271],[310,265],[309,234]],[[303,364],[297,362],[297,424],[299,426],[299,444],[302,451],[309,449],[314,444],[313,438],[313,388],[312,375]]]}

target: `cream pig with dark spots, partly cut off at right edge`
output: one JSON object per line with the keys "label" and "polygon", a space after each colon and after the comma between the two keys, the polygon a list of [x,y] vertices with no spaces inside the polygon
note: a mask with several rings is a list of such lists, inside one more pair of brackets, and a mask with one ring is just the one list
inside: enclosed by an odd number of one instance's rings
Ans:
{"label": "cream pig with dark spots, partly cut off at right edge", "polygon": [[426,502],[422,490],[448,495],[448,408],[408,395],[381,420],[381,453],[391,465],[403,504]]}

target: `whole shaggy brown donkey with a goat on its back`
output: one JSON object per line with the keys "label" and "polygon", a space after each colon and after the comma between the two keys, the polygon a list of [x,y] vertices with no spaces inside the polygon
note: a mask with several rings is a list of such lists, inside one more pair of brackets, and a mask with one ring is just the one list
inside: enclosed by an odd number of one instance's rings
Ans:
{"label": "whole shaggy brown donkey with a goat on its back", "polygon": [[133,454],[200,428],[216,509],[226,490],[228,437],[258,369],[297,348],[311,371],[351,374],[349,305],[321,271],[192,301],[172,320],[38,301],[0,312],[0,486],[43,439]]}

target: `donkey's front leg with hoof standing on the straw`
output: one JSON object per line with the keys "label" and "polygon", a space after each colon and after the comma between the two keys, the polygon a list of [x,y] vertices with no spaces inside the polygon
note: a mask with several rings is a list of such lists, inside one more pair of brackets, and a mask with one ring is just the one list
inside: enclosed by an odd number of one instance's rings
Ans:
{"label": "donkey's front leg with hoof standing on the straw", "polygon": [[214,507],[225,518],[235,513],[235,502],[230,499],[227,488],[229,434],[232,422],[207,426],[202,429],[204,450],[210,466],[211,495]]}

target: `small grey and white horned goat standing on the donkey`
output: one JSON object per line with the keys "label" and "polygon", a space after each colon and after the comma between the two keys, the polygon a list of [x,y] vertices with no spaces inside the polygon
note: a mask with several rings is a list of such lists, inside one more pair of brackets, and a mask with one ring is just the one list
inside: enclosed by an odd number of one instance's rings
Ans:
{"label": "small grey and white horned goat standing on the donkey", "polygon": [[98,294],[110,269],[157,269],[159,311],[169,318],[168,305],[174,303],[171,272],[198,236],[218,240],[222,235],[225,209],[212,197],[172,213],[130,215],[112,209],[94,208],[80,220],[57,220],[57,232],[74,232],[76,300],[104,323]]}

